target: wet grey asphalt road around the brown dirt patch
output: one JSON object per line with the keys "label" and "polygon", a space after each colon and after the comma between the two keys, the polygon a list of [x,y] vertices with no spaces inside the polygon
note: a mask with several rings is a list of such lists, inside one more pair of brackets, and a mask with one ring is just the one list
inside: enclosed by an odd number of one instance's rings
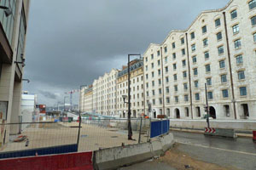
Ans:
{"label": "wet grey asphalt road around the brown dirt patch", "polygon": [[[230,170],[256,169],[256,144],[253,143],[252,139],[218,138],[205,136],[203,133],[185,133],[177,131],[172,131],[172,133],[177,142],[177,150],[195,160],[215,164]],[[146,161],[120,169],[166,170],[177,168],[165,161]],[[206,169],[206,167],[199,169]]]}

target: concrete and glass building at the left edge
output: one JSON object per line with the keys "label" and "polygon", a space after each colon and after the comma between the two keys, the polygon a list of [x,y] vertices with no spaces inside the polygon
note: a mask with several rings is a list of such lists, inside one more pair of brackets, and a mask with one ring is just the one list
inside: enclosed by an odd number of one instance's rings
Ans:
{"label": "concrete and glass building at the left edge", "polygon": [[[0,112],[6,122],[19,122],[29,4],[30,0],[0,1]],[[7,138],[18,132],[18,125],[5,130]]]}

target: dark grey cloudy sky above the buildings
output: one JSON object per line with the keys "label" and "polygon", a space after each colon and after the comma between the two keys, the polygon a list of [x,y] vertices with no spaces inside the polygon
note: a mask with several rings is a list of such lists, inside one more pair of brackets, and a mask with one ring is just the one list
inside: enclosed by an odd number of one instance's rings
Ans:
{"label": "dark grey cloudy sky above the buildings", "polygon": [[[55,105],[64,92],[90,84],[127,54],[143,54],[172,30],[187,29],[202,10],[229,0],[32,0],[24,90]],[[79,95],[74,95],[78,103]]]}

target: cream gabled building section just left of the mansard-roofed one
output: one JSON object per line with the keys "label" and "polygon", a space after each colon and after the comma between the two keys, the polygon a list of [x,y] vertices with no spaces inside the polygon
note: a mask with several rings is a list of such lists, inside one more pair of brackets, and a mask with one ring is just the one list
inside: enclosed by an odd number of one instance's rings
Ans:
{"label": "cream gabled building section just left of the mansard-roofed one", "polygon": [[105,73],[103,77],[99,77],[93,82],[93,112],[106,116],[117,114],[117,74],[118,70],[112,69],[110,72]]}

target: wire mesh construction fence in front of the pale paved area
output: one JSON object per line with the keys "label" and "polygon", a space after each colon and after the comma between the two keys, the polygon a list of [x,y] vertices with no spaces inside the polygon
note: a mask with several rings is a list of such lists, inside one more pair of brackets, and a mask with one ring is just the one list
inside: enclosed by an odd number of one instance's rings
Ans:
{"label": "wire mesh construction fence in front of the pale paved area", "polygon": [[[66,119],[65,119],[66,120]],[[82,117],[79,122],[21,122],[2,123],[10,129],[23,126],[19,134],[9,135],[0,147],[3,153],[22,150],[52,149],[60,146],[75,146],[78,151],[99,150],[114,146],[137,144],[150,139],[150,119],[132,118],[132,139],[128,140],[127,119],[90,119]],[[67,150],[61,149],[63,151]],[[44,151],[42,151],[43,153]]]}

